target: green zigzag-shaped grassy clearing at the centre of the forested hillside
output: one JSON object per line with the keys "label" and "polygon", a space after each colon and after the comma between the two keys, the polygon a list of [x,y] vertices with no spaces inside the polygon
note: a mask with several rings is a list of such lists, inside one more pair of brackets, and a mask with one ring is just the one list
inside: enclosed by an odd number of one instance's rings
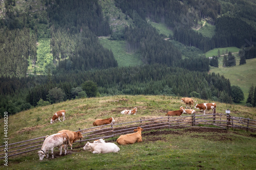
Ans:
{"label": "green zigzag-shaped grassy clearing at the centre of the forested hillside", "polygon": [[105,37],[100,37],[99,41],[105,48],[108,48],[113,52],[119,67],[136,66],[142,64],[140,55],[138,53],[127,53],[125,41],[112,41]]}

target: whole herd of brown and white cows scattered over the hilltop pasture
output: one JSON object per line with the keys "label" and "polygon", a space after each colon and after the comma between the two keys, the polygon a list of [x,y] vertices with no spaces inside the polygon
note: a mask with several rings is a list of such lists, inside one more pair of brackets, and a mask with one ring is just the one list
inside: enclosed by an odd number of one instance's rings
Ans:
{"label": "whole herd of brown and white cows scattered over the hilltop pasture", "polygon": [[[183,113],[185,113],[185,114],[196,113],[195,110],[190,109],[191,105],[192,105],[192,107],[194,107],[193,99],[182,98],[181,101],[186,104],[186,109],[181,106],[180,110],[169,111],[166,115],[181,116],[181,114],[183,114]],[[187,109],[188,106],[189,106],[189,109]],[[204,112],[204,114],[205,114],[205,110],[210,110],[210,109],[212,109],[214,113],[216,112],[216,104],[215,103],[196,104],[195,108],[202,110]],[[121,114],[136,114],[136,112],[137,112],[137,108],[134,108],[133,110],[123,110],[121,112]],[[57,119],[61,122],[61,120],[60,120],[61,116],[63,117],[62,121],[64,121],[65,113],[66,113],[65,110],[60,110],[60,111],[56,112],[51,119],[51,124],[53,122],[55,122],[55,120],[57,120]],[[110,117],[110,118],[106,118],[106,119],[97,119],[97,120],[95,120],[93,125],[101,126],[101,125],[111,124],[114,122],[115,122],[114,118]],[[142,142],[141,131],[143,131],[143,129],[138,127],[134,131],[135,131],[135,133],[119,136],[119,138],[116,140],[116,142],[118,144],[123,144],[123,145],[124,144],[133,144],[136,141]],[[65,150],[64,154],[66,155],[68,145],[70,145],[70,147],[72,149],[73,142],[75,142],[76,140],[78,140],[82,137],[83,136],[82,136],[81,132],[73,132],[70,130],[61,130],[56,134],[53,134],[50,136],[47,135],[45,137],[44,143],[42,144],[41,150],[38,151],[39,160],[42,160],[45,156],[48,158],[49,151],[51,151],[52,159],[53,159],[54,158],[53,149],[55,147],[59,148],[59,150],[60,150],[59,155],[62,154],[62,148],[64,148],[64,150]],[[120,151],[119,147],[115,143],[111,143],[111,142],[106,143],[103,139],[95,140],[93,143],[90,143],[88,141],[86,143],[86,145],[84,145],[83,149],[86,151],[91,151],[94,154],[111,153],[111,152],[115,153],[115,152]]]}

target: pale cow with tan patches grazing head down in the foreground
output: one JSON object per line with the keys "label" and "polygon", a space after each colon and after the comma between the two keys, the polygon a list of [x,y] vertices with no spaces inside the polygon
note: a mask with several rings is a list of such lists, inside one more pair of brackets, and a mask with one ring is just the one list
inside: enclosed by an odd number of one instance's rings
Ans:
{"label": "pale cow with tan patches grazing head down in the foreground", "polygon": [[64,145],[65,155],[67,154],[67,148],[68,144],[71,146],[69,136],[67,133],[56,133],[53,135],[50,135],[45,138],[44,143],[42,144],[41,150],[38,151],[39,160],[44,159],[45,155],[47,154],[47,158],[49,157],[49,151],[52,152],[52,159],[54,159],[53,156],[53,149],[55,147],[59,148],[59,155],[62,154],[62,145]]}

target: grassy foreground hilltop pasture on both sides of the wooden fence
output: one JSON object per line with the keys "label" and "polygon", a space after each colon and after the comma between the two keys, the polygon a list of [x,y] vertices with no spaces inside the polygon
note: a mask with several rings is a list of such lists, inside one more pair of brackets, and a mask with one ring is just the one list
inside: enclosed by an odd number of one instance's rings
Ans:
{"label": "grassy foreground hilltop pasture on both sides of the wooden fence", "polygon": [[[120,100],[125,99],[125,100]],[[198,103],[209,102],[196,99]],[[97,118],[113,116],[116,123],[162,117],[184,103],[180,97],[162,95],[119,95],[71,100],[36,107],[8,118],[9,143],[54,134],[62,129],[72,131],[92,127]],[[121,115],[123,109],[137,107],[136,115]],[[255,119],[256,108],[217,102],[217,113],[229,108],[232,116]],[[65,122],[50,124],[54,112],[66,109]],[[198,110],[197,110],[198,111]],[[202,114],[201,112],[198,112]],[[0,119],[4,136],[4,119]],[[116,143],[118,136],[106,139]],[[118,153],[92,154],[82,149],[86,142],[76,143],[68,155],[39,161],[37,151],[9,157],[8,169],[255,169],[255,133],[242,130],[205,130],[205,128],[143,131],[142,142],[119,145]],[[0,139],[3,143],[3,137]],[[92,142],[92,141],[90,141]],[[6,169],[0,160],[0,169]]]}

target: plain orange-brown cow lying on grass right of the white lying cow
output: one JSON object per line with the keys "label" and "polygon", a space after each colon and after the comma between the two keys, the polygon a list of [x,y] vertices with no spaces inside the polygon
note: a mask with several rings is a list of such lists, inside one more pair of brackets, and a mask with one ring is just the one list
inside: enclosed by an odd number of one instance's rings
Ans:
{"label": "plain orange-brown cow lying on grass right of the white lying cow", "polygon": [[[137,132],[136,132],[137,131]],[[142,142],[142,136],[141,136],[141,131],[143,129],[141,127],[138,127],[137,129],[134,129],[134,132],[136,133],[131,133],[131,134],[126,134],[126,135],[121,135],[119,138],[116,140],[118,144],[133,144],[136,141],[137,142]]]}

